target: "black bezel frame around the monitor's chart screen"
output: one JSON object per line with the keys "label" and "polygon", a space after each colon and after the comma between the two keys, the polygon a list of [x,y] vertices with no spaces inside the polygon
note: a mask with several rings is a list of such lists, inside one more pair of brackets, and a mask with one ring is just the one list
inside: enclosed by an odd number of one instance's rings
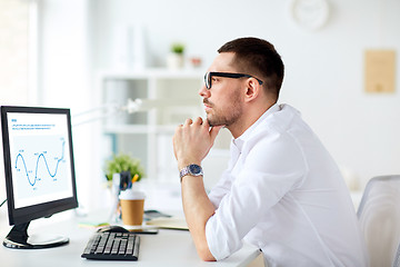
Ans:
{"label": "black bezel frame around the monitor's chart screen", "polygon": [[[71,168],[72,197],[37,204],[28,207],[21,207],[21,208],[14,207],[12,171],[11,171],[11,151],[10,151],[10,138],[9,138],[9,125],[8,125],[9,113],[59,113],[67,116],[66,123],[67,123],[68,139],[69,139],[68,144],[70,151],[69,156],[70,156],[70,168]],[[72,150],[70,109],[1,106],[1,128],[2,128],[3,160],[4,160],[9,224],[19,225],[23,222],[29,222],[33,219],[50,217],[53,214],[77,208],[78,197],[77,197],[76,172],[74,172],[74,161],[73,161],[73,150]]]}

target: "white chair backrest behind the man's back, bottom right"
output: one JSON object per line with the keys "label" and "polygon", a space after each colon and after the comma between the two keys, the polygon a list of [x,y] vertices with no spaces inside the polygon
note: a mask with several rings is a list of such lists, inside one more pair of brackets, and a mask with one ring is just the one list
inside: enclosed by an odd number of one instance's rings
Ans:
{"label": "white chair backrest behind the man's back, bottom right", "polygon": [[379,176],[367,184],[357,216],[371,267],[394,266],[400,240],[400,175]]}

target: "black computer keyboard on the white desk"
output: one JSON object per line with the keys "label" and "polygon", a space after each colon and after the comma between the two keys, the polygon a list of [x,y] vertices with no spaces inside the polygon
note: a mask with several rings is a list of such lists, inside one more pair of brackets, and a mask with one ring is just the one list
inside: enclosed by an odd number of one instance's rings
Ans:
{"label": "black computer keyboard on the white desk", "polygon": [[140,237],[133,233],[94,233],[82,258],[138,260]]}

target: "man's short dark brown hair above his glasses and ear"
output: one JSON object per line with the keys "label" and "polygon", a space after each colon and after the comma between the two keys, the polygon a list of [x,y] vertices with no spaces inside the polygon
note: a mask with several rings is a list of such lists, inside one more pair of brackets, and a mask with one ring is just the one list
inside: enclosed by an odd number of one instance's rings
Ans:
{"label": "man's short dark brown hair above his glasses and ear", "polygon": [[251,75],[264,82],[266,92],[279,98],[284,66],[281,57],[270,42],[253,38],[239,38],[227,42],[218,52],[233,52],[234,67],[242,73]]}

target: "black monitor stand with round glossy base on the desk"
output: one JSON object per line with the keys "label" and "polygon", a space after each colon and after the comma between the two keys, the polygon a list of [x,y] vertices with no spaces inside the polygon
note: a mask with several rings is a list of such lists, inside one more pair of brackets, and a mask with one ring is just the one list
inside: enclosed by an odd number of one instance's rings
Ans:
{"label": "black monitor stand with round glossy base on the desk", "polygon": [[51,237],[46,240],[41,239],[40,237],[29,237],[29,224],[30,221],[14,225],[3,241],[4,247],[20,249],[38,249],[59,247],[69,243],[69,239],[67,237]]}

